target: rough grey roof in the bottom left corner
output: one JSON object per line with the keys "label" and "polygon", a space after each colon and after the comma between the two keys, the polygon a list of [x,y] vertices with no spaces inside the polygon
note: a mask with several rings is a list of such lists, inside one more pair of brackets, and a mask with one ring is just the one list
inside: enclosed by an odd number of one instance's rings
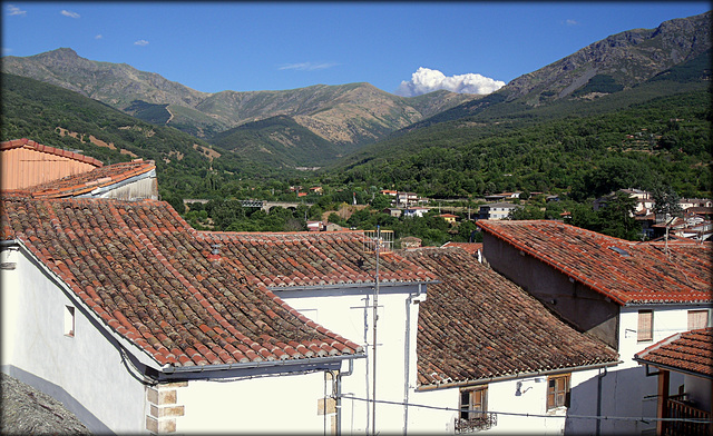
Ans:
{"label": "rough grey roof in the bottom left corner", "polygon": [[91,432],[61,403],[25,383],[1,376],[0,434],[90,435]]}

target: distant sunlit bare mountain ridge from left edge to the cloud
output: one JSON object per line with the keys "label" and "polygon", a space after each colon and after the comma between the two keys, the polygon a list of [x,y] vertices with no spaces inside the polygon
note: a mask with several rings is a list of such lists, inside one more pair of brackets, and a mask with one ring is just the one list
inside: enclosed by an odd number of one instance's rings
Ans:
{"label": "distant sunlit bare mountain ridge from left edge to the cloud", "polygon": [[[201,92],[158,73],[126,63],[92,61],[70,48],[26,57],[4,57],[2,71],[30,77],[82,93],[130,113],[137,101],[180,108],[167,125],[209,140],[212,135],[245,122],[290,116],[336,145],[371,142],[478,96],[448,91],[430,98],[406,98],[370,83],[313,85],[279,91]],[[140,118],[140,112],[134,112]],[[148,120],[152,120],[149,118]]]}

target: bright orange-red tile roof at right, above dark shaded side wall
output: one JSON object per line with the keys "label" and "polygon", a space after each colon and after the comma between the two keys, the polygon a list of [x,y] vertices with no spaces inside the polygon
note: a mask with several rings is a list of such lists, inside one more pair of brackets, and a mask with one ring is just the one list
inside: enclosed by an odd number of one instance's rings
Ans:
{"label": "bright orange-red tile roof at right, above dark shaded side wall", "polygon": [[666,249],[547,220],[478,226],[619,305],[713,301],[711,242],[668,241]]}

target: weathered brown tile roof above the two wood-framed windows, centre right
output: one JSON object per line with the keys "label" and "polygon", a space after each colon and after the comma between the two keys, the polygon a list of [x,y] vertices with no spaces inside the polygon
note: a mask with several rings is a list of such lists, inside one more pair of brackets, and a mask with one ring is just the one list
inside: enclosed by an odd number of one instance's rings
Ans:
{"label": "weathered brown tile roof above the two wood-framed windows, centre right", "polygon": [[420,386],[618,361],[614,349],[576,331],[460,248],[404,256],[441,280],[429,285],[419,308]]}

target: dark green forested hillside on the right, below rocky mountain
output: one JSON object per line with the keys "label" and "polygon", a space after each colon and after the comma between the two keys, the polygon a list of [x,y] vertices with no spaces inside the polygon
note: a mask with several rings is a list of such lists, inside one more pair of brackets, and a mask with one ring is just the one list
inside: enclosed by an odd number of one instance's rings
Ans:
{"label": "dark green forested hillside on the right, below rocky mountain", "polygon": [[[439,123],[355,155],[333,175],[440,198],[527,190],[572,191],[584,200],[618,188],[651,188],[656,180],[682,196],[710,196],[711,93],[705,85],[696,87],[593,111],[599,115],[578,116],[587,110],[579,102],[570,105],[582,110],[559,119],[533,112],[533,119]],[[600,106],[608,103],[602,99]]]}

